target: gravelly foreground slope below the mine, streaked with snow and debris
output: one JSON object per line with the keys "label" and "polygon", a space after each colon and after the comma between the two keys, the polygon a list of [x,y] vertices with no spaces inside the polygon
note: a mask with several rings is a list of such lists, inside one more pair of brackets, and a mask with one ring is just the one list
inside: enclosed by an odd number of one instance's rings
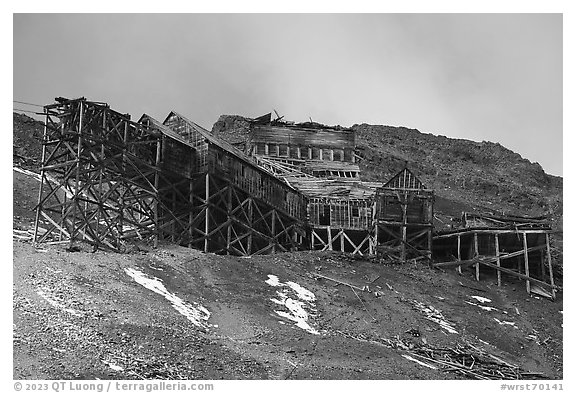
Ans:
{"label": "gravelly foreground slope below the mine, streaked with snow and debris", "polygon": [[[35,131],[18,128],[39,123],[15,120],[18,151],[39,158]],[[384,142],[374,143],[362,145],[365,168],[380,157]],[[337,252],[236,258],[168,244],[127,254],[34,247],[27,234],[38,184],[13,172],[15,379],[563,376],[561,293],[550,302],[515,279],[497,287],[495,277],[476,282],[466,269]],[[456,367],[462,362],[466,370]]]}

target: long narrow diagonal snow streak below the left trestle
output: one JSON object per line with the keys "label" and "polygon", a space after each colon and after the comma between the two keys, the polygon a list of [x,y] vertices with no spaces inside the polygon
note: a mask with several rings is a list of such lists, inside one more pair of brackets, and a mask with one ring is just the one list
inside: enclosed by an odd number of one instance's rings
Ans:
{"label": "long narrow diagonal snow streak below the left trestle", "polygon": [[124,271],[138,284],[148,288],[152,292],[156,292],[157,294],[164,296],[166,300],[172,303],[172,307],[176,309],[176,311],[184,315],[194,325],[205,329],[211,326],[209,323],[207,323],[208,318],[210,318],[210,311],[208,311],[208,309],[206,309],[201,304],[196,302],[194,302],[194,304],[190,304],[180,299],[173,293],[168,292],[162,283],[162,280],[159,278],[150,277],[147,274],[132,268],[126,268]]}

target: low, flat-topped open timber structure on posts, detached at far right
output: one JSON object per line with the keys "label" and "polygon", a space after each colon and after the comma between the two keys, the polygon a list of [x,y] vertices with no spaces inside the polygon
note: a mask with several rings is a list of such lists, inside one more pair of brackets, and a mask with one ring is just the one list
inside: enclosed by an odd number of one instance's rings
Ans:
{"label": "low, flat-topped open timber structure on posts, detached at far right", "polygon": [[555,298],[551,228],[539,217],[504,217],[463,213],[462,226],[434,236],[434,260],[438,267],[473,266],[476,280],[496,273],[526,282],[528,293]]}

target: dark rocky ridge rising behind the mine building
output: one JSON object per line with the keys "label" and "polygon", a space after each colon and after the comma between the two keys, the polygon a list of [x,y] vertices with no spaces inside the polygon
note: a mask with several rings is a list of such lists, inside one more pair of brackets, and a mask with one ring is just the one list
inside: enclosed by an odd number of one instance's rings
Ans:
{"label": "dark rocky ridge rising behind the mine building", "polygon": [[[238,145],[249,123],[223,115],[212,132]],[[520,154],[493,142],[474,142],[424,134],[416,129],[355,124],[362,178],[387,181],[404,165],[437,195],[436,211],[458,216],[462,210],[549,216],[562,228],[562,178],[544,172]]]}

